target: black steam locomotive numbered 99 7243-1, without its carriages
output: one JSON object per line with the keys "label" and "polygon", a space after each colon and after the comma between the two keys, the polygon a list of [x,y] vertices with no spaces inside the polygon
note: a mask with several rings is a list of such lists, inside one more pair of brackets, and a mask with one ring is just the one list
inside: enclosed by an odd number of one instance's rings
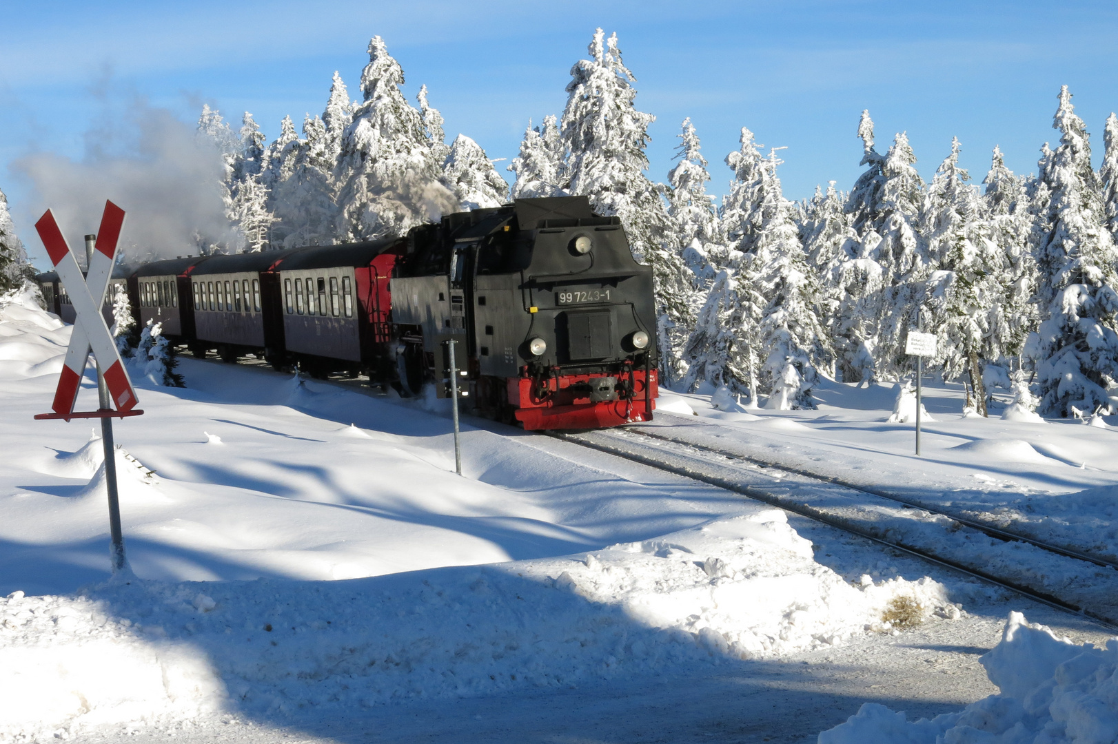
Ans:
{"label": "black steam locomotive numbered 99 7243-1, without its carriages", "polygon": [[420,376],[417,362],[427,379],[444,378],[453,338],[476,406],[525,429],[652,418],[652,269],[586,197],[522,199],[417,228],[400,274],[391,292],[405,387]]}

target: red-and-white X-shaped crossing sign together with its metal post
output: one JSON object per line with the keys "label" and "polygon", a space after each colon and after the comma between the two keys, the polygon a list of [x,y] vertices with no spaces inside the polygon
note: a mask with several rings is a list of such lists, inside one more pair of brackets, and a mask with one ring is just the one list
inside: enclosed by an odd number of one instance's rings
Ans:
{"label": "red-and-white X-shaped crossing sign together with its metal post", "polygon": [[[35,229],[42,240],[47,255],[58,271],[58,278],[74,304],[77,317],[70,331],[70,343],[66,349],[66,360],[55,401],[54,413],[39,413],[36,419],[101,419],[102,443],[105,450],[105,486],[108,492],[108,530],[112,538],[110,559],[113,573],[125,566],[124,535],[121,530],[121,505],[116,488],[116,454],[113,443],[114,417],[140,416],[143,411],[135,408],[139,402],[132,381],[116,350],[116,342],[108,333],[101,306],[105,302],[105,292],[116,263],[116,248],[124,226],[124,210],[111,201],[105,202],[105,212],[101,218],[101,229],[96,242],[87,256],[87,273],[82,275],[77,259],[66,244],[54,214],[48,209],[35,223]],[[92,236],[86,236],[87,248]],[[96,411],[75,411],[74,403],[82,387],[82,375],[93,352],[97,369]],[[113,408],[115,403],[116,408]]]}

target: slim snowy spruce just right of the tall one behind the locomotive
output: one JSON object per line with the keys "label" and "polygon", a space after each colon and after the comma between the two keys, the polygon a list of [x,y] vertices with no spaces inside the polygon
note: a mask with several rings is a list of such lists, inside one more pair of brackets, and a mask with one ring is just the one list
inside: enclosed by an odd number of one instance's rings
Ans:
{"label": "slim snowy spruce just right of the tall one behind the locomotive", "polygon": [[[680,144],[675,149],[679,162],[667,173],[667,218],[673,245],[694,276],[697,290],[707,289],[726,261],[718,210],[707,193],[707,159],[700,152],[699,136],[690,118],[683,120]],[[695,293],[694,296],[698,296]]]}

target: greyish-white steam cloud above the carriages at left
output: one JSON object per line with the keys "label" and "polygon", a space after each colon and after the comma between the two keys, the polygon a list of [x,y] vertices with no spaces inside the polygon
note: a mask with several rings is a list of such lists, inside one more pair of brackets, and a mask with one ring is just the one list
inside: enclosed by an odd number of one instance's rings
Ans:
{"label": "greyish-white steam cloud above the carriages at left", "polygon": [[[12,163],[32,185],[21,210],[34,223],[50,209],[70,247],[80,255],[82,238],[97,231],[108,199],[126,213],[121,248],[125,261],[173,258],[198,252],[205,242],[228,239],[217,147],[196,136],[164,108],[133,101],[123,117],[85,135],[82,161],[35,153]],[[25,236],[34,245],[38,237]]]}

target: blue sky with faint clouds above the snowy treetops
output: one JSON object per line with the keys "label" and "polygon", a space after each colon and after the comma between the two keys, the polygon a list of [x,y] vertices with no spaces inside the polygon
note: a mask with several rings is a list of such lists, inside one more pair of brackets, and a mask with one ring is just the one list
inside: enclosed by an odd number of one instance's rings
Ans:
{"label": "blue sky with faint clouds above the snowy treetops", "polygon": [[9,1],[0,25],[0,189],[32,255],[20,156],[82,160],[91,146],[127,156],[127,137],[104,132],[138,99],[184,122],[202,103],[234,121],[250,111],[273,137],[285,114],[299,124],[321,113],[335,69],[359,94],[373,35],[402,65],[409,98],[427,85],[448,139],[463,132],[490,158],[511,159],[529,118],[561,113],[595,27],[616,31],[637,106],[657,117],[650,175],[666,179],[690,116],[716,194],[742,126],[787,147],[779,174],[798,199],[817,183],[854,182],[863,108],[882,152],[908,132],[925,178],[958,136],[976,181],[995,144],[1010,168],[1035,171],[1054,140],[1060,85],[1095,135],[1096,160],[1118,108],[1114,2]]}

